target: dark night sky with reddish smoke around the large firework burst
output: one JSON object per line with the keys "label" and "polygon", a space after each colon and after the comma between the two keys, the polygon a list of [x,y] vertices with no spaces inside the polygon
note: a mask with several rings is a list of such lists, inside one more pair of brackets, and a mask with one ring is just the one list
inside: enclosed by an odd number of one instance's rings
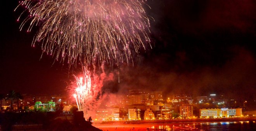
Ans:
{"label": "dark night sky with reddish smoke around the large firework burst", "polygon": [[[165,94],[209,93],[254,98],[256,94],[256,2],[254,0],[147,0],[152,47],[134,66],[106,66],[115,79],[105,92],[162,90]],[[67,65],[54,63],[33,35],[19,31],[17,0],[1,2],[0,93],[64,94],[73,79]],[[42,55],[42,59],[40,59]],[[135,54],[136,55],[136,54]]]}

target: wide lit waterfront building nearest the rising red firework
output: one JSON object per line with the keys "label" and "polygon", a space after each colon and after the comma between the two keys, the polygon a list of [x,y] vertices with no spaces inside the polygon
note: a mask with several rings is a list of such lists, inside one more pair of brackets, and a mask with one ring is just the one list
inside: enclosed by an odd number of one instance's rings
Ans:
{"label": "wide lit waterfront building nearest the rising red firework", "polygon": [[119,108],[98,109],[96,111],[96,119],[98,119],[100,121],[119,120]]}

